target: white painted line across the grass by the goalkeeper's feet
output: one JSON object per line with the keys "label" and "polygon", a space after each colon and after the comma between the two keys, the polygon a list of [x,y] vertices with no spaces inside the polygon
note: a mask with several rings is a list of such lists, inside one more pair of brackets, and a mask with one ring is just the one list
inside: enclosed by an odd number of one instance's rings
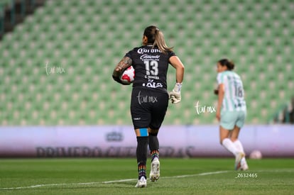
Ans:
{"label": "white painted line across the grass by the goalkeeper's feet", "polygon": [[[185,175],[178,175],[172,177],[160,177],[160,179],[174,179],[174,178],[185,178],[185,177],[195,177],[195,176],[205,176],[209,174],[222,174],[227,173],[229,171],[219,171],[219,172],[203,172],[200,174],[185,174]],[[106,181],[106,182],[86,182],[86,183],[69,183],[69,184],[38,184],[33,186],[19,186],[19,187],[6,187],[0,188],[0,190],[13,190],[13,189],[34,189],[40,188],[44,186],[82,186],[82,185],[91,185],[91,184],[112,184],[112,183],[119,183],[119,182],[131,182],[136,181],[137,179],[119,179],[113,181]]]}

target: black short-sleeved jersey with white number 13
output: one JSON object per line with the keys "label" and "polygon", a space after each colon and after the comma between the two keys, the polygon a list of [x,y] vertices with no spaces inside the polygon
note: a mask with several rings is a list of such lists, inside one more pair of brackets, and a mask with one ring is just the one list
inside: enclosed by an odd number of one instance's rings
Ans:
{"label": "black short-sleeved jersey with white number 13", "polygon": [[166,91],[169,59],[173,55],[175,52],[165,54],[152,45],[141,46],[127,52],[125,56],[131,58],[135,69],[133,87]]}

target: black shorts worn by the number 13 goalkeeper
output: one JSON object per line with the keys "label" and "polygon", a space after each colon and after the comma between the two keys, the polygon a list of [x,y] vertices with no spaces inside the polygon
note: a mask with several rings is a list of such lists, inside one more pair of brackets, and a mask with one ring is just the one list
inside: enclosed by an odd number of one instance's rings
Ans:
{"label": "black shorts worn by the number 13 goalkeeper", "polygon": [[131,118],[135,129],[159,129],[167,108],[167,91],[133,88],[131,93]]}

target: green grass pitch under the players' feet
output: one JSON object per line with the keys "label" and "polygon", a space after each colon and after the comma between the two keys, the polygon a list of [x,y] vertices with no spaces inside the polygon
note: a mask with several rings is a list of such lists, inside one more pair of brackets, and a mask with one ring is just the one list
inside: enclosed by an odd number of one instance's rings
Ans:
{"label": "green grass pitch under the players' feet", "polygon": [[294,194],[294,159],[247,161],[161,158],[158,182],[136,189],[134,158],[1,159],[0,194]]}

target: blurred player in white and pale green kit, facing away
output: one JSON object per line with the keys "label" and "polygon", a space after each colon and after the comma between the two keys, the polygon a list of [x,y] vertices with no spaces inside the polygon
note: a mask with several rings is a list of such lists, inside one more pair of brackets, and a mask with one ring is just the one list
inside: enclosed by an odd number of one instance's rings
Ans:
{"label": "blurred player in white and pale green kit, facing away", "polygon": [[236,157],[235,169],[249,169],[239,132],[246,118],[246,101],[241,78],[233,72],[234,63],[227,59],[217,62],[218,95],[216,117],[219,120],[220,143]]}

